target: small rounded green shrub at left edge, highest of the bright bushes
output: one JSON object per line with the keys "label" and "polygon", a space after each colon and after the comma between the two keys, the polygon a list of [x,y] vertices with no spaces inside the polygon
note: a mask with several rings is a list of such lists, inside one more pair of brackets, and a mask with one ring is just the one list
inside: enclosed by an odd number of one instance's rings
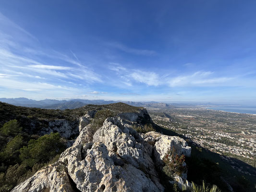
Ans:
{"label": "small rounded green shrub at left edge, highest of the bright bushes", "polygon": [[8,122],[4,123],[3,127],[0,129],[0,133],[3,135],[17,135],[22,130],[20,124],[17,120],[9,120]]}

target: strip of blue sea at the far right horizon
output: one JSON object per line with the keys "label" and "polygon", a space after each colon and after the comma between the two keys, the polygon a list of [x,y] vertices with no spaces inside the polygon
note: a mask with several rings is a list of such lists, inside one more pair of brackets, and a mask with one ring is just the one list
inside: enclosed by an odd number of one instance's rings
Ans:
{"label": "strip of blue sea at the far right horizon", "polygon": [[256,107],[221,106],[221,107],[211,107],[208,109],[227,111],[227,112],[236,112],[236,113],[256,114]]}

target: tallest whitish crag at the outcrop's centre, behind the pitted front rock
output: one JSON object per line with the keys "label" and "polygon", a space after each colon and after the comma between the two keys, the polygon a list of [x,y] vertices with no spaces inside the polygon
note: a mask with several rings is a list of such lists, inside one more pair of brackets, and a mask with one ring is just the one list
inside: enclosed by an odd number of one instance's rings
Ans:
{"label": "tallest whitish crag at the outcrop's centre, behind the pitted front rock", "polygon": [[117,153],[126,163],[151,175],[156,185],[160,186],[155,164],[150,157],[152,150],[145,148],[143,138],[131,128],[128,121],[120,117],[107,119],[94,134],[93,141],[105,144],[110,152]]}

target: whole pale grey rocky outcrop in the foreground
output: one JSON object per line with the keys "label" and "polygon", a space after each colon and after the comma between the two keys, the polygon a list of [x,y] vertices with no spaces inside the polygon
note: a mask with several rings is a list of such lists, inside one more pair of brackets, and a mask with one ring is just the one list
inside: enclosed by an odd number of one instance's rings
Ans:
{"label": "whole pale grey rocky outcrop in the foreground", "polygon": [[[191,148],[176,136],[136,132],[150,121],[145,109],[107,118],[95,133],[89,111],[80,119],[80,134],[60,159],[16,186],[12,192],[163,192],[159,170],[168,150],[190,156]],[[178,176],[177,176],[178,177]],[[186,181],[186,174],[178,177]]]}

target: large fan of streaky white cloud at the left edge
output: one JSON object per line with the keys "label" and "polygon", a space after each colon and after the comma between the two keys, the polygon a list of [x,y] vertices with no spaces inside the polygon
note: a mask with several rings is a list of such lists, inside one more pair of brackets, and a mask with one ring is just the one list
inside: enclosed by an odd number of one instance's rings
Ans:
{"label": "large fan of streaky white cloud at the left edge", "polygon": [[[9,78],[13,83],[20,81],[24,84],[40,80],[40,83],[49,84],[50,87],[56,85],[63,89],[64,82],[72,82],[73,86],[102,82],[100,75],[81,64],[72,50],[70,51],[74,59],[60,51],[41,48],[35,36],[1,13],[0,25],[0,78]],[[32,87],[27,86],[20,90],[43,90],[33,84],[28,85]],[[5,83],[5,87],[19,89],[12,86],[10,81],[9,84]]]}

